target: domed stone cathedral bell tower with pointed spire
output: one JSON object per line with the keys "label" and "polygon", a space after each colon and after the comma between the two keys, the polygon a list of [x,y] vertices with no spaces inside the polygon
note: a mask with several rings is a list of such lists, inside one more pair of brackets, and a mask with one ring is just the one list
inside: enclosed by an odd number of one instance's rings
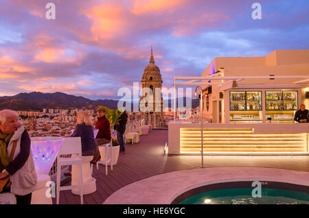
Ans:
{"label": "domed stone cathedral bell tower with pointed spire", "polygon": [[[156,101],[156,88],[162,88],[162,78],[159,67],[155,64],[155,58],[152,55],[152,47],[151,47],[151,55],[149,65],[146,66],[144,70],[143,77],[141,78],[141,87],[142,88],[150,88],[152,90],[152,105],[153,107],[148,110],[142,110],[143,104],[141,104],[141,119],[144,119],[144,123],[151,124],[154,128],[159,128],[160,123],[163,120],[163,98],[161,91],[159,94],[160,97],[157,97]],[[143,93],[140,101],[147,97],[148,93]],[[150,104],[150,101],[146,102],[146,107]],[[157,108],[157,109],[156,109]],[[159,111],[158,111],[159,108]]]}

